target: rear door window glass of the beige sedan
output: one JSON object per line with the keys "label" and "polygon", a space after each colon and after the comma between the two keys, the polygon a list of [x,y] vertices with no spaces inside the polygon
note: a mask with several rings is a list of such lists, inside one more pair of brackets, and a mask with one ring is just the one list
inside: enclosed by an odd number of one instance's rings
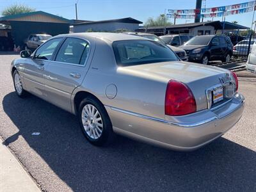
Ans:
{"label": "rear door window glass of the beige sedan", "polygon": [[55,61],[84,65],[86,58],[88,58],[89,50],[90,44],[85,40],[67,38],[61,45]]}

